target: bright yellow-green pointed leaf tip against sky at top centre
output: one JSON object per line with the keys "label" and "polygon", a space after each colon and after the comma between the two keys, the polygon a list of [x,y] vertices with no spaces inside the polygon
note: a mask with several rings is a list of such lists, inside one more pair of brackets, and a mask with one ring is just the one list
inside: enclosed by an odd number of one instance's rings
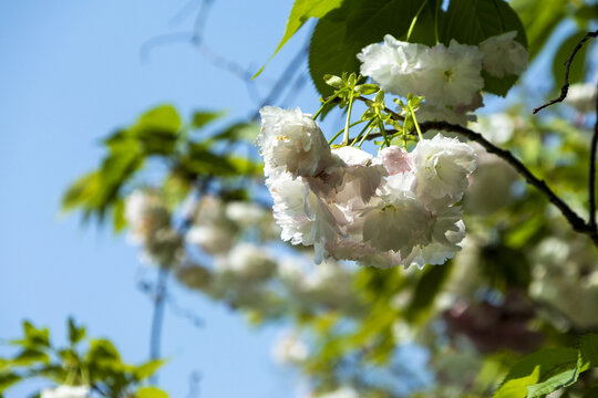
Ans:
{"label": "bright yellow-green pointed leaf tip against sky at top centre", "polygon": [[[278,43],[274,54],[270,56],[270,60],[282,49],[282,46],[289,41],[290,38],[307,22],[310,18],[322,18],[328,14],[330,11],[340,7],[343,0],[295,0],[292,4],[291,13],[289,20],[287,21],[287,28],[285,29],[285,34]],[[268,62],[270,62],[268,60]],[[261,69],[251,77],[256,78],[268,64],[264,64]]]}

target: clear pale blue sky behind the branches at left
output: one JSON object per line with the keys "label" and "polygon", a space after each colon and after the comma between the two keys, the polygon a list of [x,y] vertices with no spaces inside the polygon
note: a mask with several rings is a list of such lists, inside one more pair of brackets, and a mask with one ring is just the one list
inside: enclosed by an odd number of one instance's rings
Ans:
{"label": "clear pale blue sky behind the branches at left", "polygon": [[[196,2],[198,3],[198,1]],[[193,4],[193,2],[190,3]],[[257,70],[282,35],[291,0],[219,0],[206,27],[209,45]],[[109,229],[60,214],[69,184],[94,168],[100,139],[154,105],[256,108],[245,85],[187,43],[140,50],[150,39],[189,30],[196,8],[173,18],[184,0],[0,2],[0,338],[20,333],[23,318],[50,326],[62,342],[73,315],[93,336],[114,341],[125,359],[148,352],[152,305],[135,286],[137,250]],[[269,64],[274,78],[303,44],[293,39]],[[305,66],[302,66],[305,70]],[[310,83],[308,83],[310,85]],[[296,104],[317,106],[309,86]],[[185,397],[192,371],[202,374],[202,397],[282,397],[297,376],[270,359],[277,327],[250,328],[245,320],[199,295],[175,290],[177,300],[206,323],[202,328],[167,313],[163,353],[171,358],[161,385]],[[9,348],[0,346],[0,353]],[[23,397],[31,385],[9,391]]]}

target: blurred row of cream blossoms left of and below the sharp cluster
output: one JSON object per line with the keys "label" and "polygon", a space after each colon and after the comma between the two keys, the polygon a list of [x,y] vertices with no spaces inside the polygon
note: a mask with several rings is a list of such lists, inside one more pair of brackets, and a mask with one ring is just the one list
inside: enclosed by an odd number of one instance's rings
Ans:
{"label": "blurred row of cream blossoms left of and below the sharp cluster", "polygon": [[262,206],[205,195],[185,208],[190,227],[176,230],[164,198],[138,189],[127,197],[125,218],[144,262],[172,270],[188,289],[265,317],[276,316],[281,305],[303,313],[360,308],[349,270],[275,255],[267,243],[278,240],[280,229]]}

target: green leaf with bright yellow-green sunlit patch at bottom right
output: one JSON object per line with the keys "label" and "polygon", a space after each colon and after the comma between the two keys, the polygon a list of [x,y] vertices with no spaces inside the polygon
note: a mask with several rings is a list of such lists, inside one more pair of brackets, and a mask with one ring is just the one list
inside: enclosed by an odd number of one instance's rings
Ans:
{"label": "green leaf with bright yellow-green sunlit patch at bottom right", "polygon": [[509,370],[494,398],[538,397],[567,387],[580,371],[579,352],[548,348],[526,356]]}

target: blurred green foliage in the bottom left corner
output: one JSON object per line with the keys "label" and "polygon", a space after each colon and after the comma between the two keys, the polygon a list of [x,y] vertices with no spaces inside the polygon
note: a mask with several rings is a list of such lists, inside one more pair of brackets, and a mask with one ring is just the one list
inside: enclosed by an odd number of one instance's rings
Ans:
{"label": "blurred green foliage in the bottom left corner", "polygon": [[[69,346],[55,347],[50,342],[48,328],[23,322],[23,337],[11,341],[21,349],[12,357],[0,358],[0,396],[14,384],[31,377],[47,378],[58,385],[93,385],[106,398],[136,396],[141,383],[164,364],[162,359],[138,366],[123,363],[112,342],[105,338],[85,341],[85,327],[69,318]],[[156,388],[138,389],[142,390],[143,397],[167,397]]]}

